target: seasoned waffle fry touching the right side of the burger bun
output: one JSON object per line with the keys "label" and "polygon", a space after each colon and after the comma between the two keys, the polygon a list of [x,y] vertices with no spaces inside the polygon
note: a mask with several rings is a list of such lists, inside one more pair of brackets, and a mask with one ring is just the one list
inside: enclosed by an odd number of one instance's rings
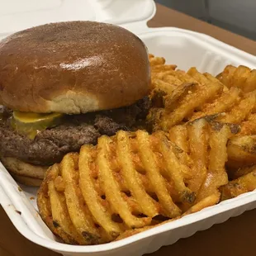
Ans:
{"label": "seasoned waffle fry touching the right side of the burger bun", "polygon": [[[172,73],[156,75],[158,75],[158,83],[153,82],[154,90],[151,94],[153,108],[149,111],[148,116],[153,130],[168,131],[182,121],[189,120],[194,111],[200,111],[206,102],[215,100],[224,88],[217,78],[208,73],[201,74],[195,68],[189,69],[187,73],[173,70]],[[159,83],[159,80],[164,81],[164,86],[159,87],[159,84],[163,85],[163,83]],[[161,100],[158,101],[161,103],[154,104],[155,92],[158,89],[162,92]]]}

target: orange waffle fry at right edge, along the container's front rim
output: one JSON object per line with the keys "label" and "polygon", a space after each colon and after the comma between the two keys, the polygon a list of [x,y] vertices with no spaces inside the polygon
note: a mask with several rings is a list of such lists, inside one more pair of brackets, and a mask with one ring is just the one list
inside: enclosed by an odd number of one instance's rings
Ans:
{"label": "orange waffle fry at right edge, along the container's front rim", "polygon": [[221,201],[238,197],[246,192],[256,189],[256,167],[250,173],[241,176],[221,187]]}

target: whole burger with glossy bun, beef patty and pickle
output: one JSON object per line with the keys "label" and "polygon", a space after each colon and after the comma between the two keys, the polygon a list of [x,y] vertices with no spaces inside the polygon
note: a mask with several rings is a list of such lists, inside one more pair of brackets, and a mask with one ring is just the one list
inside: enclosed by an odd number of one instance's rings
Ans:
{"label": "whole burger with glossy bun, beef patty and pickle", "polygon": [[119,26],[70,21],[0,42],[0,160],[39,186],[51,164],[101,135],[145,126],[150,87],[144,43]]}

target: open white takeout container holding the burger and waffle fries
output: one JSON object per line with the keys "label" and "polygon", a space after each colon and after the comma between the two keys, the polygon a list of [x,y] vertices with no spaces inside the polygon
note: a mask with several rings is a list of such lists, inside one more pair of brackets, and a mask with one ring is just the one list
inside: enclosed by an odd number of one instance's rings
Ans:
{"label": "open white takeout container holding the burger and waffle fries", "polygon": [[[0,0],[0,37],[53,21],[94,20],[124,26],[140,36],[149,52],[164,56],[169,64],[187,70],[196,66],[201,72],[220,73],[227,64],[256,68],[256,57],[200,33],[174,27],[149,28],[154,17],[152,0]],[[140,67],[138,67],[140,69]],[[222,201],[197,213],[110,244],[75,246],[55,239],[37,212],[36,189],[18,186],[0,163],[0,203],[27,239],[64,255],[142,255],[163,245],[206,230],[216,223],[256,208],[256,192]]]}

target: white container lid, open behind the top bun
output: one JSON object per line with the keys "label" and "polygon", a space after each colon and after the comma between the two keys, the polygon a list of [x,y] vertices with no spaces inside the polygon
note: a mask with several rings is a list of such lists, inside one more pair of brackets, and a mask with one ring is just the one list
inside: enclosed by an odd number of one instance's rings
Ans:
{"label": "white container lid, open behind the top bun", "polygon": [[0,36],[58,21],[146,24],[155,12],[153,0],[0,0],[0,7]]}

